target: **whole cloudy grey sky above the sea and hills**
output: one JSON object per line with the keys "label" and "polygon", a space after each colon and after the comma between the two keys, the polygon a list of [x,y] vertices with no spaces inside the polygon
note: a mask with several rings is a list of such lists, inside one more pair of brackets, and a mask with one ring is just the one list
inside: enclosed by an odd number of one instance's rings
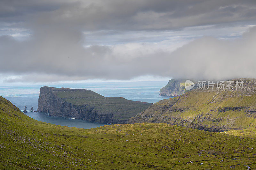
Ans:
{"label": "whole cloudy grey sky above the sea and hills", "polygon": [[0,84],[256,78],[255,0],[0,0]]}

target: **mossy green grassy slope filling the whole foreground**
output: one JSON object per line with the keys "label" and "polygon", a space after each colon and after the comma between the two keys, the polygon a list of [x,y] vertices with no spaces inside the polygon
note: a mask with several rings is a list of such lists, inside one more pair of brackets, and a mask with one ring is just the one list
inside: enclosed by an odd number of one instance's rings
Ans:
{"label": "mossy green grassy slope filling the whole foreground", "polygon": [[256,138],[162,123],[71,128],[29,118],[0,96],[0,169],[256,168]]}

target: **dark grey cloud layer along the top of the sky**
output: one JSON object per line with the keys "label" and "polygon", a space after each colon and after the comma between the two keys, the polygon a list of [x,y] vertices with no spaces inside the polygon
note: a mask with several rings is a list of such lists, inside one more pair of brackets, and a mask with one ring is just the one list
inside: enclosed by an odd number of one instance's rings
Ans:
{"label": "dark grey cloud layer along the top of the sky", "polygon": [[2,0],[0,11],[1,21],[23,26],[69,24],[90,30],[178,29],[256,19],[253,0]]}

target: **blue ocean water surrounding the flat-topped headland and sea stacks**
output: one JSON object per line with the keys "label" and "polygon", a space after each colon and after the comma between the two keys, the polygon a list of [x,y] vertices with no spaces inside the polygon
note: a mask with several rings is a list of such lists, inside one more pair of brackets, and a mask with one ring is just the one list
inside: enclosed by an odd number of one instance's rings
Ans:
{"label": "blue ocean water surrounding the flat-topped headland and sea stacks", "polygon": [[103,123],[88,122],[79,119],[68,119],[63,117],[52,117],[45,113],[30,112],[30,108],[36,111],[40,87],[65,87],[75,89],[88,89],[108,97],[124,97],[128,100],[156,103],[159,100],[171,98],[170,96],[159,96],[159,90],[168,81],[144,81],[144,82],[100,82],[100,83],[65,83],[65,84],[34,84],[34,85],[0,85],[0,95],[9,100],[20,110],[27,106],[29,117],[35,120],[53,123],[62,126],[90,129],[105,125]]}

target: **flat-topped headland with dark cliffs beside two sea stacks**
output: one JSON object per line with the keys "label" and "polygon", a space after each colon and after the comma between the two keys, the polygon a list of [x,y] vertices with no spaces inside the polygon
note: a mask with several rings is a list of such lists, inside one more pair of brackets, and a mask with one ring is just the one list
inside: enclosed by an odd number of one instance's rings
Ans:
{"label": "flat-topped headland with dark cliffs beside two sea stacks", "polygon": [[41,87],[37,111],[100,123],[127,123],[152,103],[104,97],[85,89]]}

